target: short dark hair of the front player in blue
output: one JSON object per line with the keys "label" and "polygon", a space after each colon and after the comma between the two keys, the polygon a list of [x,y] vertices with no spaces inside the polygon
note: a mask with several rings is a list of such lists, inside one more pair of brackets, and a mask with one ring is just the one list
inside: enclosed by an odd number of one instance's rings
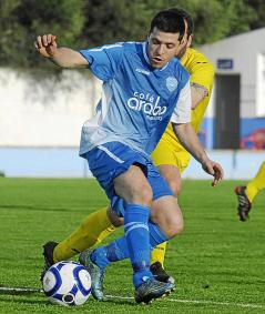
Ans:
{"label": "short dark hair of the front player in blue", "polygon": [[153,18],[150,26],[150,32],[157,28],[163,32],[180,33],[180,40],[185,33],[185,22],[183,13],[179,9],[172,8],[162,10]]}

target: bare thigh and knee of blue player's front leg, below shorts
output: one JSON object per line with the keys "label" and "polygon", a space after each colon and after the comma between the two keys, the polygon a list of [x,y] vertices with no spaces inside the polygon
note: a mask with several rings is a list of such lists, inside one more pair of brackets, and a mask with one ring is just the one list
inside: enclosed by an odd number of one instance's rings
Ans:
{"label": "bare thigh and knee of blue player's front leg, below shorts", "polygon": [[113,181],[115,193],[126,203],[150,205],[153,193],[142,169],[131,165],[128,171]]}

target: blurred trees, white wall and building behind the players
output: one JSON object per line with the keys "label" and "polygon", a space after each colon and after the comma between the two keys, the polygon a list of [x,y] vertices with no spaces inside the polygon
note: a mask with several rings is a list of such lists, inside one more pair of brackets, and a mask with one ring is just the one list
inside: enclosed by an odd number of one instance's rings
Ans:
{"label": "blurred trees, white wall and building behind the players", "polygon": [[[144,41],[155,12],[175,6],[193,16],[193,47],[216,68],[200,139],[227,179],[252,178],[265,160],[264,0],[1,0],[0,175],[90,176],[79,140],[101,82],[41,59],[38,34],[73,49]],[[206,178],[195,161],[183,176]]]}

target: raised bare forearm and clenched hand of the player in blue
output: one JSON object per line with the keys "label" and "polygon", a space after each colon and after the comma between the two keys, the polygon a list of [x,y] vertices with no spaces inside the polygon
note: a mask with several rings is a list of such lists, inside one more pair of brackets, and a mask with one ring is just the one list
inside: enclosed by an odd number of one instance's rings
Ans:
{"label": "raised bare forearm and clenched hand of the player in blue", "polygon": [[53,34],[38,36],[34,42],[38,52],[49,58],[57,65],[62,68],[88,68],[88,61],[81,53],[70,48],[58,48],[57,37]]}

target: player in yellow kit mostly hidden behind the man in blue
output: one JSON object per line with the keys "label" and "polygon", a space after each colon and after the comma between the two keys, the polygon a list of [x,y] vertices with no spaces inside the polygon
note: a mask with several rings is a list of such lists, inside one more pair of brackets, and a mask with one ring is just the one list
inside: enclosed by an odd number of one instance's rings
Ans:
{"label": "player in yellow kit mostly hidden behind the man in blue", "polygon": [[[192,85],[192,125],[196,132],[200,130],[205,110],[207,108],[214,80],[214,67],[205,55],[191,49],[193,21],[191,16],[180,9],[186,23],[187,42],[183,51],[177,55],[182,64],[191,74]],[[152,159],[160,168],[162,175],[166,179],[175,195],[181,190],[181,173],[188,165],[190,154],[179,143],[169,124],[159,145],[152,153]],[[90,214],[83,223],[65,240],[60,243],[48,242],[43,249],[45,267],[55,262],[68,260],[85,249],[98,245],[109,236],[116,226],[122,224],[122,220],[108,207]],[[152,252],[151,271],[160,281],[174,281],[163,269],[165,255],[165,243],[154,249]]]}

